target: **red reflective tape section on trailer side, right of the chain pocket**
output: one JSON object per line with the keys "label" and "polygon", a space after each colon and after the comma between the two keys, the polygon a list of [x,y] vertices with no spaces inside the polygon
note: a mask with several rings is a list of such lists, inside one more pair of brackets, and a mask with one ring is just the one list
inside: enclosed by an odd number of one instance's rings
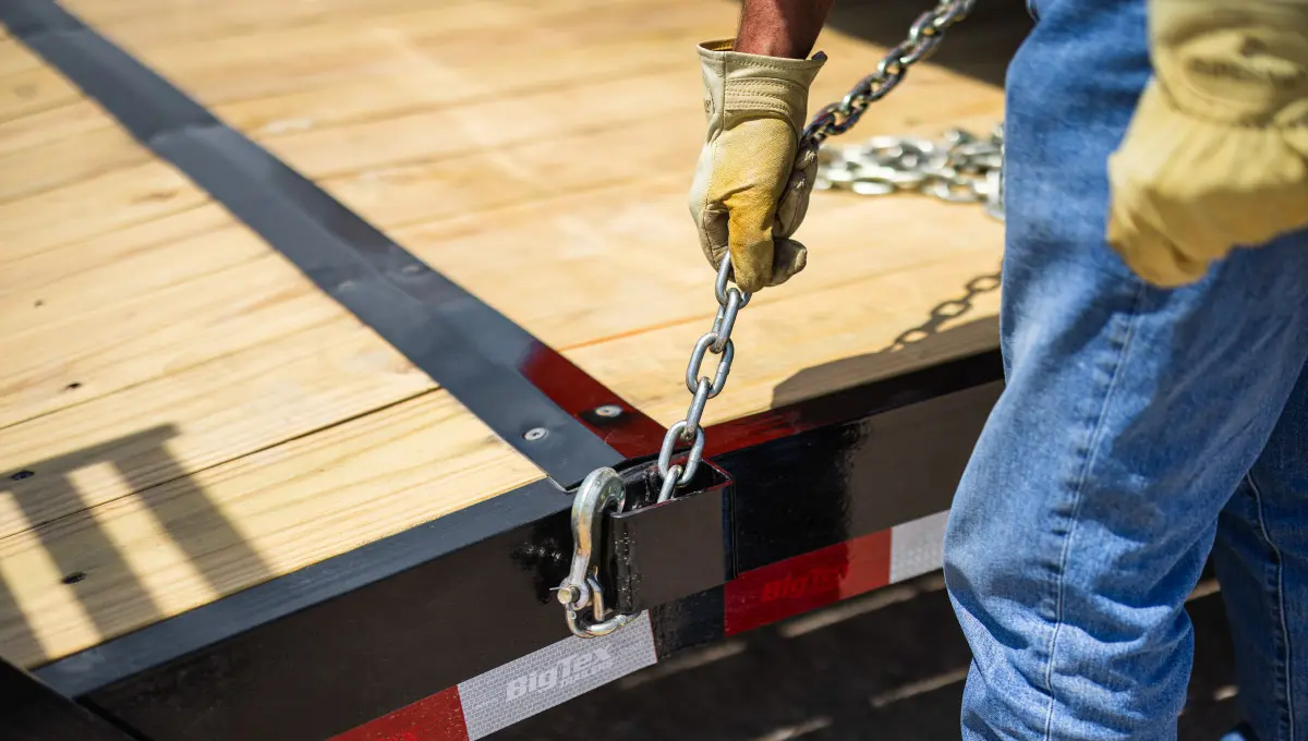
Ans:
{"label": "red reflective tape section on trailer side, right of the chain pocket", "polygon": [[889,584],[891,531],[747,571],[725,587],[722,627],[735,635]]}

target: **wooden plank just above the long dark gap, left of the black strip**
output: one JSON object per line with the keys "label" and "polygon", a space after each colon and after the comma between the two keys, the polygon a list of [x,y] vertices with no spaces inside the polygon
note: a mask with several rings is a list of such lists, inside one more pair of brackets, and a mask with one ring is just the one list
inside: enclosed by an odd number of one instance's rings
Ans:
{"label": "wooden plank just above the long dark gap, left of the black strip", "polygon": [[[22,520],[0,519],[0,538],[164,484],[177,470],[201,470],[432,388],[370,329],[343,333],[327,323],[0,429],[0,472],[35,472],[12,486],[38,502]],[[158,468],[148,451],[129,444],[114,447],[165,426],[177,430],[169,444],[177,468]],[[78,451],[106,446],[114,450],[97,455],[118,461],[126,481],[90,472],[71,497],[59,481],[61,469],[41,470],[47,460],[78,468]]]}

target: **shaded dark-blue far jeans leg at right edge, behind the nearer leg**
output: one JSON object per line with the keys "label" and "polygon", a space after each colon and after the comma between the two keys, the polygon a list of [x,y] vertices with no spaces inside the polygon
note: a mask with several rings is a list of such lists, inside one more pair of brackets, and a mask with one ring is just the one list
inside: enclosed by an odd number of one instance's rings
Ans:
{"label": "shaded dark-blue far jeans leg at right edge, behind the nearer leg", "polygon": [[1248,741],[1308,738],[1308,369],[1218,521]]}

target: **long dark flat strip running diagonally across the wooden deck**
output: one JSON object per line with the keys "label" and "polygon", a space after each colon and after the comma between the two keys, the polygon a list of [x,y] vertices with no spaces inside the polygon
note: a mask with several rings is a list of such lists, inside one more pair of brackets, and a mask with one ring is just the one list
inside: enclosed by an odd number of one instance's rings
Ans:
{"label": "long dark flat strip running diagonally across the wooden deck", "polygon": [[548,350],[523,328],[56,3],[0,0],[0,22],[555,482],[624,460],[523,375]]}

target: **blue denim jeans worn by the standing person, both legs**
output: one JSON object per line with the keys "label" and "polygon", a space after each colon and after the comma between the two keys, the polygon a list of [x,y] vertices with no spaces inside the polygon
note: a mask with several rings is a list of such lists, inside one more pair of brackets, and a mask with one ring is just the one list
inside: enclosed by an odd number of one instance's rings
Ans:
{"label": "blue denim jeans worn by the standing person, both legs", "polygon": [[1177,290],[1134,277],[1105,159],[1150,74],[1144,0],[1033,12],[1006,93],[1006,387],[946,536],[963,737],[1175,738],[1211,553],[1253,732],[1308,740],[1308,234]]}

